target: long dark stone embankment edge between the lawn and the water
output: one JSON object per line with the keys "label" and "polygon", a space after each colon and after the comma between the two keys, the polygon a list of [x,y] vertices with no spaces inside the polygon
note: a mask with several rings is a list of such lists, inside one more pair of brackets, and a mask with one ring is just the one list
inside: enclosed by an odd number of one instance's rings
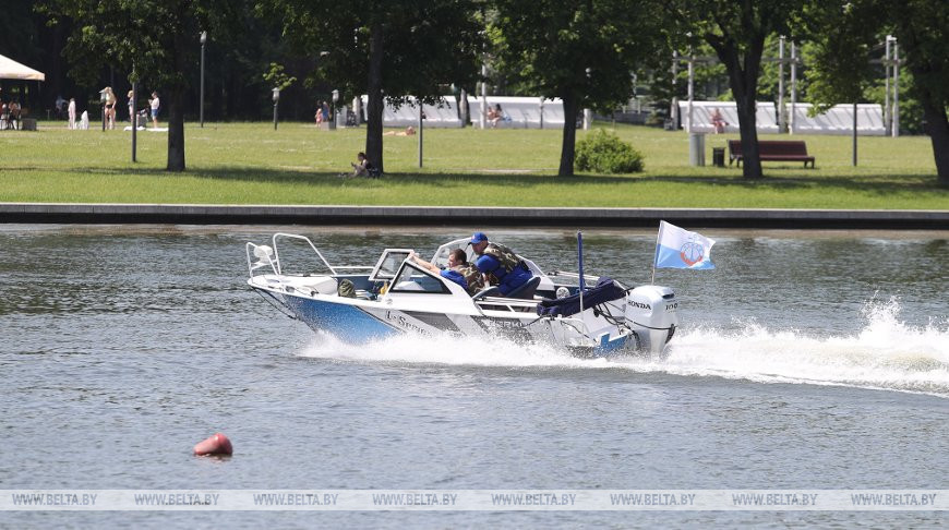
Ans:
{"label": "long dark stone embankment edge between the lawn and the water", "polygon": [[949,230],[949,210],[219,206],[0,203],[0,222],[522,227],[874,228]]}

